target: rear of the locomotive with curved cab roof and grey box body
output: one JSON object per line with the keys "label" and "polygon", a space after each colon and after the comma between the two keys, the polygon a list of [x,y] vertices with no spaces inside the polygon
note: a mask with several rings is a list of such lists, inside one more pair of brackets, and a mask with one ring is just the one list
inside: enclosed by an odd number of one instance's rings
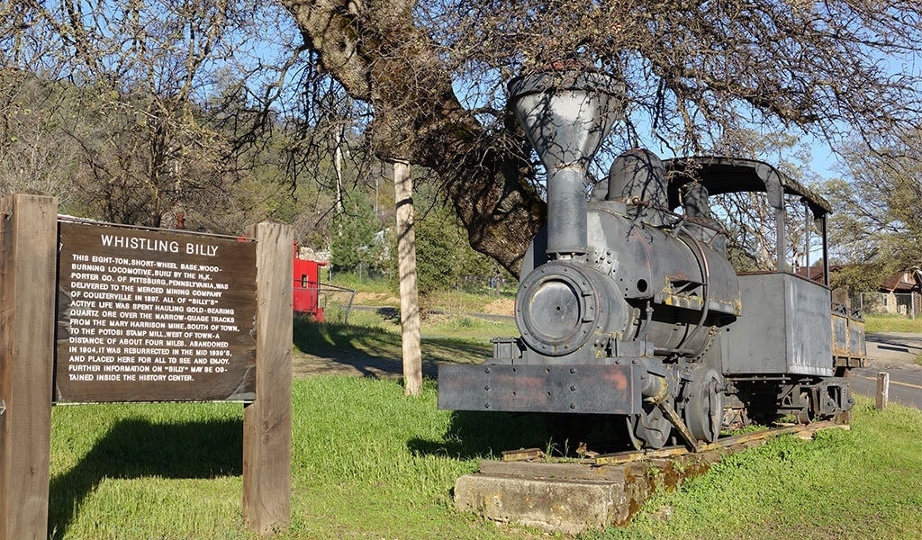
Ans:
{"label": "rear of the locomotive with curved cab roof and grey box body", "polygon": [[[774,167],[752,159],[670,159],[669,205],[680,204],[688,185],[710,194],[762,193],[774,209],[775,268],[739,275],[740,300],[762,316],[740,317],[719,337],[721,372],[736,388],[728,403],[735,422],[792,414],[803,421],[842,415],[853,404],[845,377],[864,366],[864,322],[847,294],[829,288],[827,217],[831,207],[818,194]],[[801,274],[786,263],[786,198],[803,206],[806,223]],[[819,231],[822,266],[810,268],[810,220]],[[833,298],[834,297],[834,298]]]}

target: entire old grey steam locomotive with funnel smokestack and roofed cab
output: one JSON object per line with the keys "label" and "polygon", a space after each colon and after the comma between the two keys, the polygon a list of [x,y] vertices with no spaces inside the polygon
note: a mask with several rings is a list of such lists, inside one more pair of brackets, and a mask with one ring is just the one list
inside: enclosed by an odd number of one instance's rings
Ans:
{"label": "entire old grey steam locomotive with funnel smokestack and roofed cab", "polygon": [[[548,223],[521,271],[521,335],[493,339],[482,365],[440,366],[440,408],[604,415],[638,449],[698,448],[731,417],[845,417],[864,325],[847,299],[833,305],[821,197],[759,161],[634,149],[586,201],[621,85],[549,71],[515,78],[509,93],[547,170]],[[738,276],[727,261],[707,199],[733,192],[763,192],[774,208],[776,271]],[[822,283],[786,272],[786,195],[821,231]]]}

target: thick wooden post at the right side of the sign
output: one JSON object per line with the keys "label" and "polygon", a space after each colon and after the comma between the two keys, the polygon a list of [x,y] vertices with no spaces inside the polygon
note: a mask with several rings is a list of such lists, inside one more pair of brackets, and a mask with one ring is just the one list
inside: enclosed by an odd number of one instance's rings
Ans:
{"label": "thick wooden post at the right side of the sign", "polygon": [[291,246],[278,223],[249,230],[256,240],[256,384],[243,409],[243,522],[258,534],[291,520]]}

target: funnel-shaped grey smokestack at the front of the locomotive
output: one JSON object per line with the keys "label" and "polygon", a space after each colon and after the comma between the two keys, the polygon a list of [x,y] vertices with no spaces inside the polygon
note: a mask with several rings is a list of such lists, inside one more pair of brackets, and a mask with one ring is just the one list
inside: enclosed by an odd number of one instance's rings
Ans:
{"label": "funnel-shaped grey smokestack at the front of the locomotive", "polygon": [[509,103],[548,171],[548,254],[581,255],[586,239],[585,181],[621,114],[623,85],[597,71],[549,71],[509,82]]}

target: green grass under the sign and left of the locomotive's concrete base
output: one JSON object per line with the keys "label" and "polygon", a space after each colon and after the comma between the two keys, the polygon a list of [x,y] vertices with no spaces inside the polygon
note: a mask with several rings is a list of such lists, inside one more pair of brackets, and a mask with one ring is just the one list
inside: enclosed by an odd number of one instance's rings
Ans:
{"label": "green grass under the sign and left of the locomotive's concrete base", "polygon": [[[278,538],[510,538],[454,510],[455,478],[524,443],[534,419],[453,415],[434,384],[294,382],[291,527]],[[54,538],[254,538],[242,525],[242,406],[82,405],[53,410]]]}

